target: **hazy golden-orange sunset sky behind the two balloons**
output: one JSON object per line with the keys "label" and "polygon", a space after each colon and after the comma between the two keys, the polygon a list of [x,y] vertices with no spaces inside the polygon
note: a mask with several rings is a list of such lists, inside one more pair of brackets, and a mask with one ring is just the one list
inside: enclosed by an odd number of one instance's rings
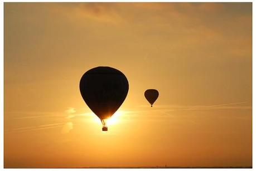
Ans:
{"label": "hazy golden-orange sunset sky behind the two balloons", "polygon": [[[108,132],[96,66],[129,81]],[[4,3],[4,167],[165,165],[252,166],[252,3]]]}

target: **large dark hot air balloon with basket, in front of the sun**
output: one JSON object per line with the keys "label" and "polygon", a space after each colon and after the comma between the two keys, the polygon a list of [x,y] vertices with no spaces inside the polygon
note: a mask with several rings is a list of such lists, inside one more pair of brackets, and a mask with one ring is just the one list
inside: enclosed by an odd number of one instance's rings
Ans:
{"label": "large dark hot air balloon with basket, in front of the sun", "polygon": [[80,92],[89,108],[99,117],[103,131],[107,131],[106,119],[122,105],[129,89],[125,75],[112,67],[99,66],[81,77]]}

